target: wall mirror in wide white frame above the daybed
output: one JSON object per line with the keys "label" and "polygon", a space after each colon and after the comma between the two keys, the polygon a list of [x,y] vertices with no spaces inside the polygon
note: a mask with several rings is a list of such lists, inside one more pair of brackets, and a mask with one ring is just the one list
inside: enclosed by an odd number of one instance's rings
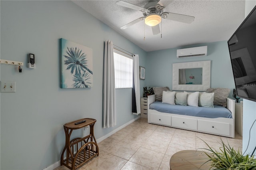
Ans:
{"label": "wall mirror in wide white frame above the daybed", "polygon": [[172,90],[206,91],[210,88],[211,61],[172,64]]}

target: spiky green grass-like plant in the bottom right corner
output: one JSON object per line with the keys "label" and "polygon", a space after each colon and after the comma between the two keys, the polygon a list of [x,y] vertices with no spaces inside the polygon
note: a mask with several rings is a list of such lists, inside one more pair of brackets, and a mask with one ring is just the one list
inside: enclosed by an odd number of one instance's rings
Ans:
{"label": "spiky green grass-like plant in the bottom right corner", "polygon": [[219,143],[221,144],[220,151],[206,143],[209,148],[205,150],[210,152],[205,152],[209,158],[207,162],[210,162],[214,170],[256,170],[256,159],[253,155],[243,155],[241,150],[235,150],[229,144],[224,144],[221,138]]}

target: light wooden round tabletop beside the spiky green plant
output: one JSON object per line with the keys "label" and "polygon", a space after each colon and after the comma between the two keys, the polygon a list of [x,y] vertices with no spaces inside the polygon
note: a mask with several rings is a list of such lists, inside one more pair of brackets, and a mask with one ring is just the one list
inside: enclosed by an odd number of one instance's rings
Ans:
{"label": "light wooden round tabletop beside the spiky green plant", "polygon": [[[208,156],[200,150],[182,150],[172,155],[170,170],[209,170]],[[205,164],[204,164],[205,163]]]}

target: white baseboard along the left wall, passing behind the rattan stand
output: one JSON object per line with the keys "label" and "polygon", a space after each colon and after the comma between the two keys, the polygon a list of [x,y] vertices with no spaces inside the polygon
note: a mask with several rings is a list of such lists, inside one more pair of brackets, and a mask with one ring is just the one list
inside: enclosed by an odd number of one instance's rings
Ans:
{"label": "white baseboard along the left wall, passing behind the rattan stand", "polygon": [[[115,130],[109,132],[108,134],[96,139],[97,143],[101,142],[102,140],[108,138],[109,136],[111,136],[112,134],[116,133],[118,130],[121,130],[122,128],[126,127],[127,125],[130,125],[131,123],[133,123],[134,121],[140,119],[140,116],[136,117],[135,119],[132,119],[131,121],[127,122],[126,124],[116,128]],[[55,168],[57,168],[58,166],[60,166],[60,160],[58,162],[55,162],[54,164],[44,168],[43,170],[54,170]]]}

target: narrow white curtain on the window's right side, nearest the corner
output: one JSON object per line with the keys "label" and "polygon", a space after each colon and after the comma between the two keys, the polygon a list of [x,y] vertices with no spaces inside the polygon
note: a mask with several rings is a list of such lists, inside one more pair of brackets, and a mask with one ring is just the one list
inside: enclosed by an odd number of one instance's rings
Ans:
{"label": "narrow white curtain on the window's right side, nearest the corner", "polygon": [[136,99],[136,108],[137,113],[140,114],[140,71],[139,71],[139,55],[135,54],[133,56],[133,72],[134,72],[134,90],[135,90],[135,99]]}

